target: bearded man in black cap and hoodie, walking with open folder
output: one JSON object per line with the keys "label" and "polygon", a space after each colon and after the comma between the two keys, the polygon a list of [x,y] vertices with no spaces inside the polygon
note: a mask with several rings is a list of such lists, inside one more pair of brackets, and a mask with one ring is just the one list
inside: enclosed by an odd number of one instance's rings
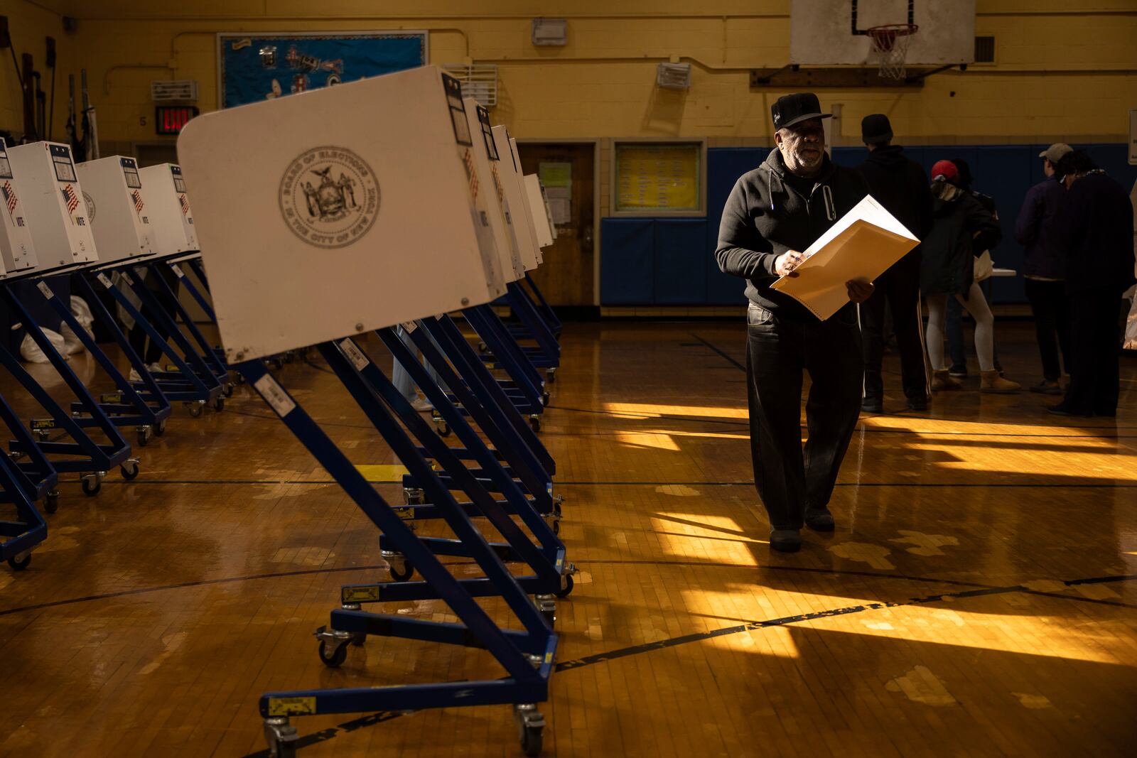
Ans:
{"label": "bearded man in black cap and hoodie, walking with open folder", "polygon": [[[849,305],[819,320],[770,289],[794,276],[802,251],[864,198],[864,180],[825,155],[818,95],[779,98],[771,108],[777,148],[735,184],[723,208],[715,258],[746,280],[746,365],[754,482],[770,517],[770,547],[802,547],[803,523],[835,528],[829,499],[860,415],[862,356],[856,308],[871,284],[847,282]],[[800,433],[803,372],[808,441]]]}

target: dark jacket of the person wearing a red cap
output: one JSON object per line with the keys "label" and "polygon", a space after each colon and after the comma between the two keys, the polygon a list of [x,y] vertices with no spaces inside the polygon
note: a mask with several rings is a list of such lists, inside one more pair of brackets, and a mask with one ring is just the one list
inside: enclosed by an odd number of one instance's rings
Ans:
{"label": "dark jacket of the person wearing a red cap", "polygon": [[998,232],[998,222],[966,190],[951,199],[936,198],[932,225],[921,245],[920,291],[923,294],[966,294],[974,280],[976,235]]}

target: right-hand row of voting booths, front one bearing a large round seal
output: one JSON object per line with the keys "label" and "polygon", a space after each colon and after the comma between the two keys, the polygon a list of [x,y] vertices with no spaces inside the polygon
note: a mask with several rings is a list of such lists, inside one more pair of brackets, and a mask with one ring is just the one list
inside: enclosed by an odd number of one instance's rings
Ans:
{"label": "right-hand row of voting booths, front one bearing a large round seal", "polygon": [[[387,638],[396,656],[399,640],[425,641],[504,669],[415,683],[375,672],[382,686],[346,677],[265,693],[271,755],[294,753],[298,716],[495,703],[513,708],[522,750],[538,755],[556,602],[575,569],[557,535],[556,465],[537,433],[559,323],[526,272],[551,224],[516,142],[456,80],[424,66],[207,114],[183,131],[179,158],[225,360],[374,524],[389,564],[389,575],[330,599],[315,632],[321,660],[338,668],[354,645]],[[433,420],[368,353],[370,335],[409,372]],[[308,345],[406,467],[401,502],[384,500],[356,467],[366,461],[337,448],[268,372],[266,357]],[[383,611],[431,599],[458,620]]]}

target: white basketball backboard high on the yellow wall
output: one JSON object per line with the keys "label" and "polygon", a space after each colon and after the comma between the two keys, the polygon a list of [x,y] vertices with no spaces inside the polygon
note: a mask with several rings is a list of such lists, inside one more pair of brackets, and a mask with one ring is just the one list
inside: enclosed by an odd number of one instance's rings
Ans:
{"label": "white basketball backboard high on the yellow wall", "polygon": [[907,66],[974,61],[974,0],[791,0],[789,63],[874,66],[868,31],[886,24],[918,27],[907,40]]}

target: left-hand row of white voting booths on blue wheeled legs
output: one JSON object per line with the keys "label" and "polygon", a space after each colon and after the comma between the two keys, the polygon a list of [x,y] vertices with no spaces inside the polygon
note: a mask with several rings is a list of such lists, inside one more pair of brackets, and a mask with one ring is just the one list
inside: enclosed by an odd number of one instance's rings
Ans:
{"label": "left-hand row of white voting booths on blue wheeled legs", "polygon": [[[139,168],[124,156],[76,165],[66,144],[0,140],[0,302],[70,398],[61,402],[0,345],[0,365],[14,380],[6,386],[36,408],[22,417],[15,398],[0,395],[9,436],[0,498],[11,514],[0,522],[0,558],[20,570],[47,536],[41,510],[59,507],[60,475],[77,475],[91,497],[116,467],[135,478],[136,451],[165,433],[172,401],[185,402],[194,416],[207,403],[221,410],[232,384],[223,353],[174,294],[176,282],[186,281],[184,289],[209,306],[181,167]],[[108,353],[80,323],[73,295],[88,303],[117,351]],[[132,348],[127,323],[163,364],[146,363]],[[110,391],[94,394],[84,385],[49,336],[57,330],[74,334],[105,380],[100,388]]]}

